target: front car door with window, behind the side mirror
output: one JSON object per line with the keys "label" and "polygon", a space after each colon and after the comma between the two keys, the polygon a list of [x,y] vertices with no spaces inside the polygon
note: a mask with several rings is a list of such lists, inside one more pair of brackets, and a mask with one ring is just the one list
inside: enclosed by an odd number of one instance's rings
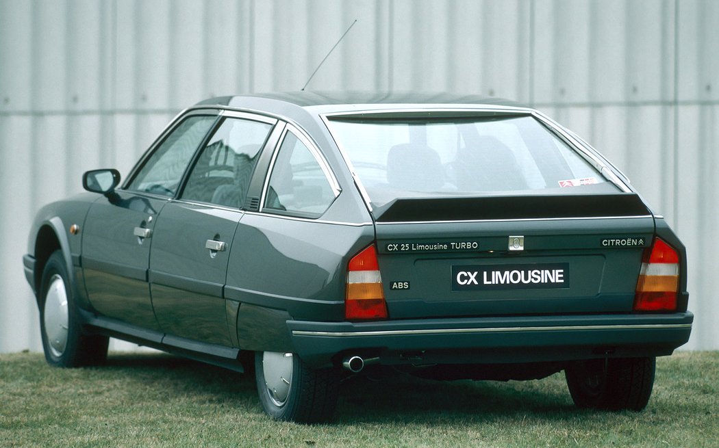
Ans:
{"label": "front car door with window, behind the side mirror", "polygon": [[197,113],[176,123],[148,151],[127,186],[93,203],[83,229],[82,263],[88,297],[104,317],[159,330],[147,271],[157,216],[216,116]]}

